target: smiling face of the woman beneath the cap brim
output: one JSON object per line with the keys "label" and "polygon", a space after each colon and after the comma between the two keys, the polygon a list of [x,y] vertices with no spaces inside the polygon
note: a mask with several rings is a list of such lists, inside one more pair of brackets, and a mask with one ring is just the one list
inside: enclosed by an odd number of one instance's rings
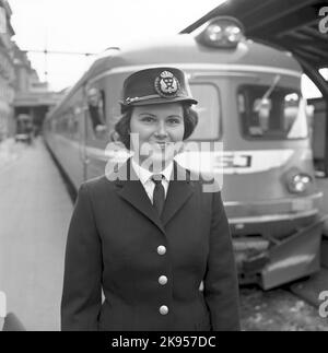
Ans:
{"label": "smiling face of the woman beneath the cap brim", "polygon": [[[133,107],[131,149],[139,163],[150,168],[164,168],[172,162],[185,133],[184,109],[180,103],[165,103]],[[136,143],[137,142],[137,143]]]}

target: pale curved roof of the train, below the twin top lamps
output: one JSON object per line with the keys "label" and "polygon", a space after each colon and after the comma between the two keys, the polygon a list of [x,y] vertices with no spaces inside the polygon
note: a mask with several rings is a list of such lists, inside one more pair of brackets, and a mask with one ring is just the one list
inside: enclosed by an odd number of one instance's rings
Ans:
{"label": "pale curved roof of the train, below the twin top lamps", "polygon": [[[234,49],[211,48],[199,44],[190,34],[179,34],[156,40],[142,40],[138,44],[113,48],[98,57],[84,75],[72,86],[61,106],[83,83],[115,68],[131,66],[169,64],[238,64],[270,67],[302,73],[302,67],[288,51],[245,39]],[[59,109],[59,106],[52,113]]]}

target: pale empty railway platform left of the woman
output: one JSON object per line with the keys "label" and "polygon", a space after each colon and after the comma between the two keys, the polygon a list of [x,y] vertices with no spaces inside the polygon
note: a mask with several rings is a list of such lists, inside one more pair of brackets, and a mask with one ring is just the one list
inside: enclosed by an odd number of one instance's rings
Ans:
{"label": "pale empty railway platform left of the woman", "polygon": [[27,330],[60,328],[71,211],[66,186],[42,139],[32,145],[1,142],[0,291],[7,295],[7,311]]}

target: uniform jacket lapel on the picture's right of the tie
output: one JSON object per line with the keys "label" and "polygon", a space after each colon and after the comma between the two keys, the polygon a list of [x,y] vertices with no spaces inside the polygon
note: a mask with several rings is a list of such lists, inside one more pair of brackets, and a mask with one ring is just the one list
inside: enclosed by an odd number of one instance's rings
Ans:
{"label": "uniform jacket lapel on the picture's right of the tie", "polygon": [[163,225],[181,209],[194,192],[189,170],[174,162],[174,173],[171,177],[165,205],[162,214]]}

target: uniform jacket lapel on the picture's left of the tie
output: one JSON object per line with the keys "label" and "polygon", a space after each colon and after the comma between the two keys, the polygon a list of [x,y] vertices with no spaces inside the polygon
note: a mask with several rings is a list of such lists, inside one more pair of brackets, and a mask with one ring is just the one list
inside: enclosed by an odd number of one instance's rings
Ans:
{"label": "uniform jacket lapel on the picture's left of the tie", "polygon": [[138,179],[130,160],[125,163],[117,172],[117,179],[115,180],[118,195],[128,201],[138,211],[144,214],[152,221],[163,233],[163,223],[152,205],[142,184]]}

